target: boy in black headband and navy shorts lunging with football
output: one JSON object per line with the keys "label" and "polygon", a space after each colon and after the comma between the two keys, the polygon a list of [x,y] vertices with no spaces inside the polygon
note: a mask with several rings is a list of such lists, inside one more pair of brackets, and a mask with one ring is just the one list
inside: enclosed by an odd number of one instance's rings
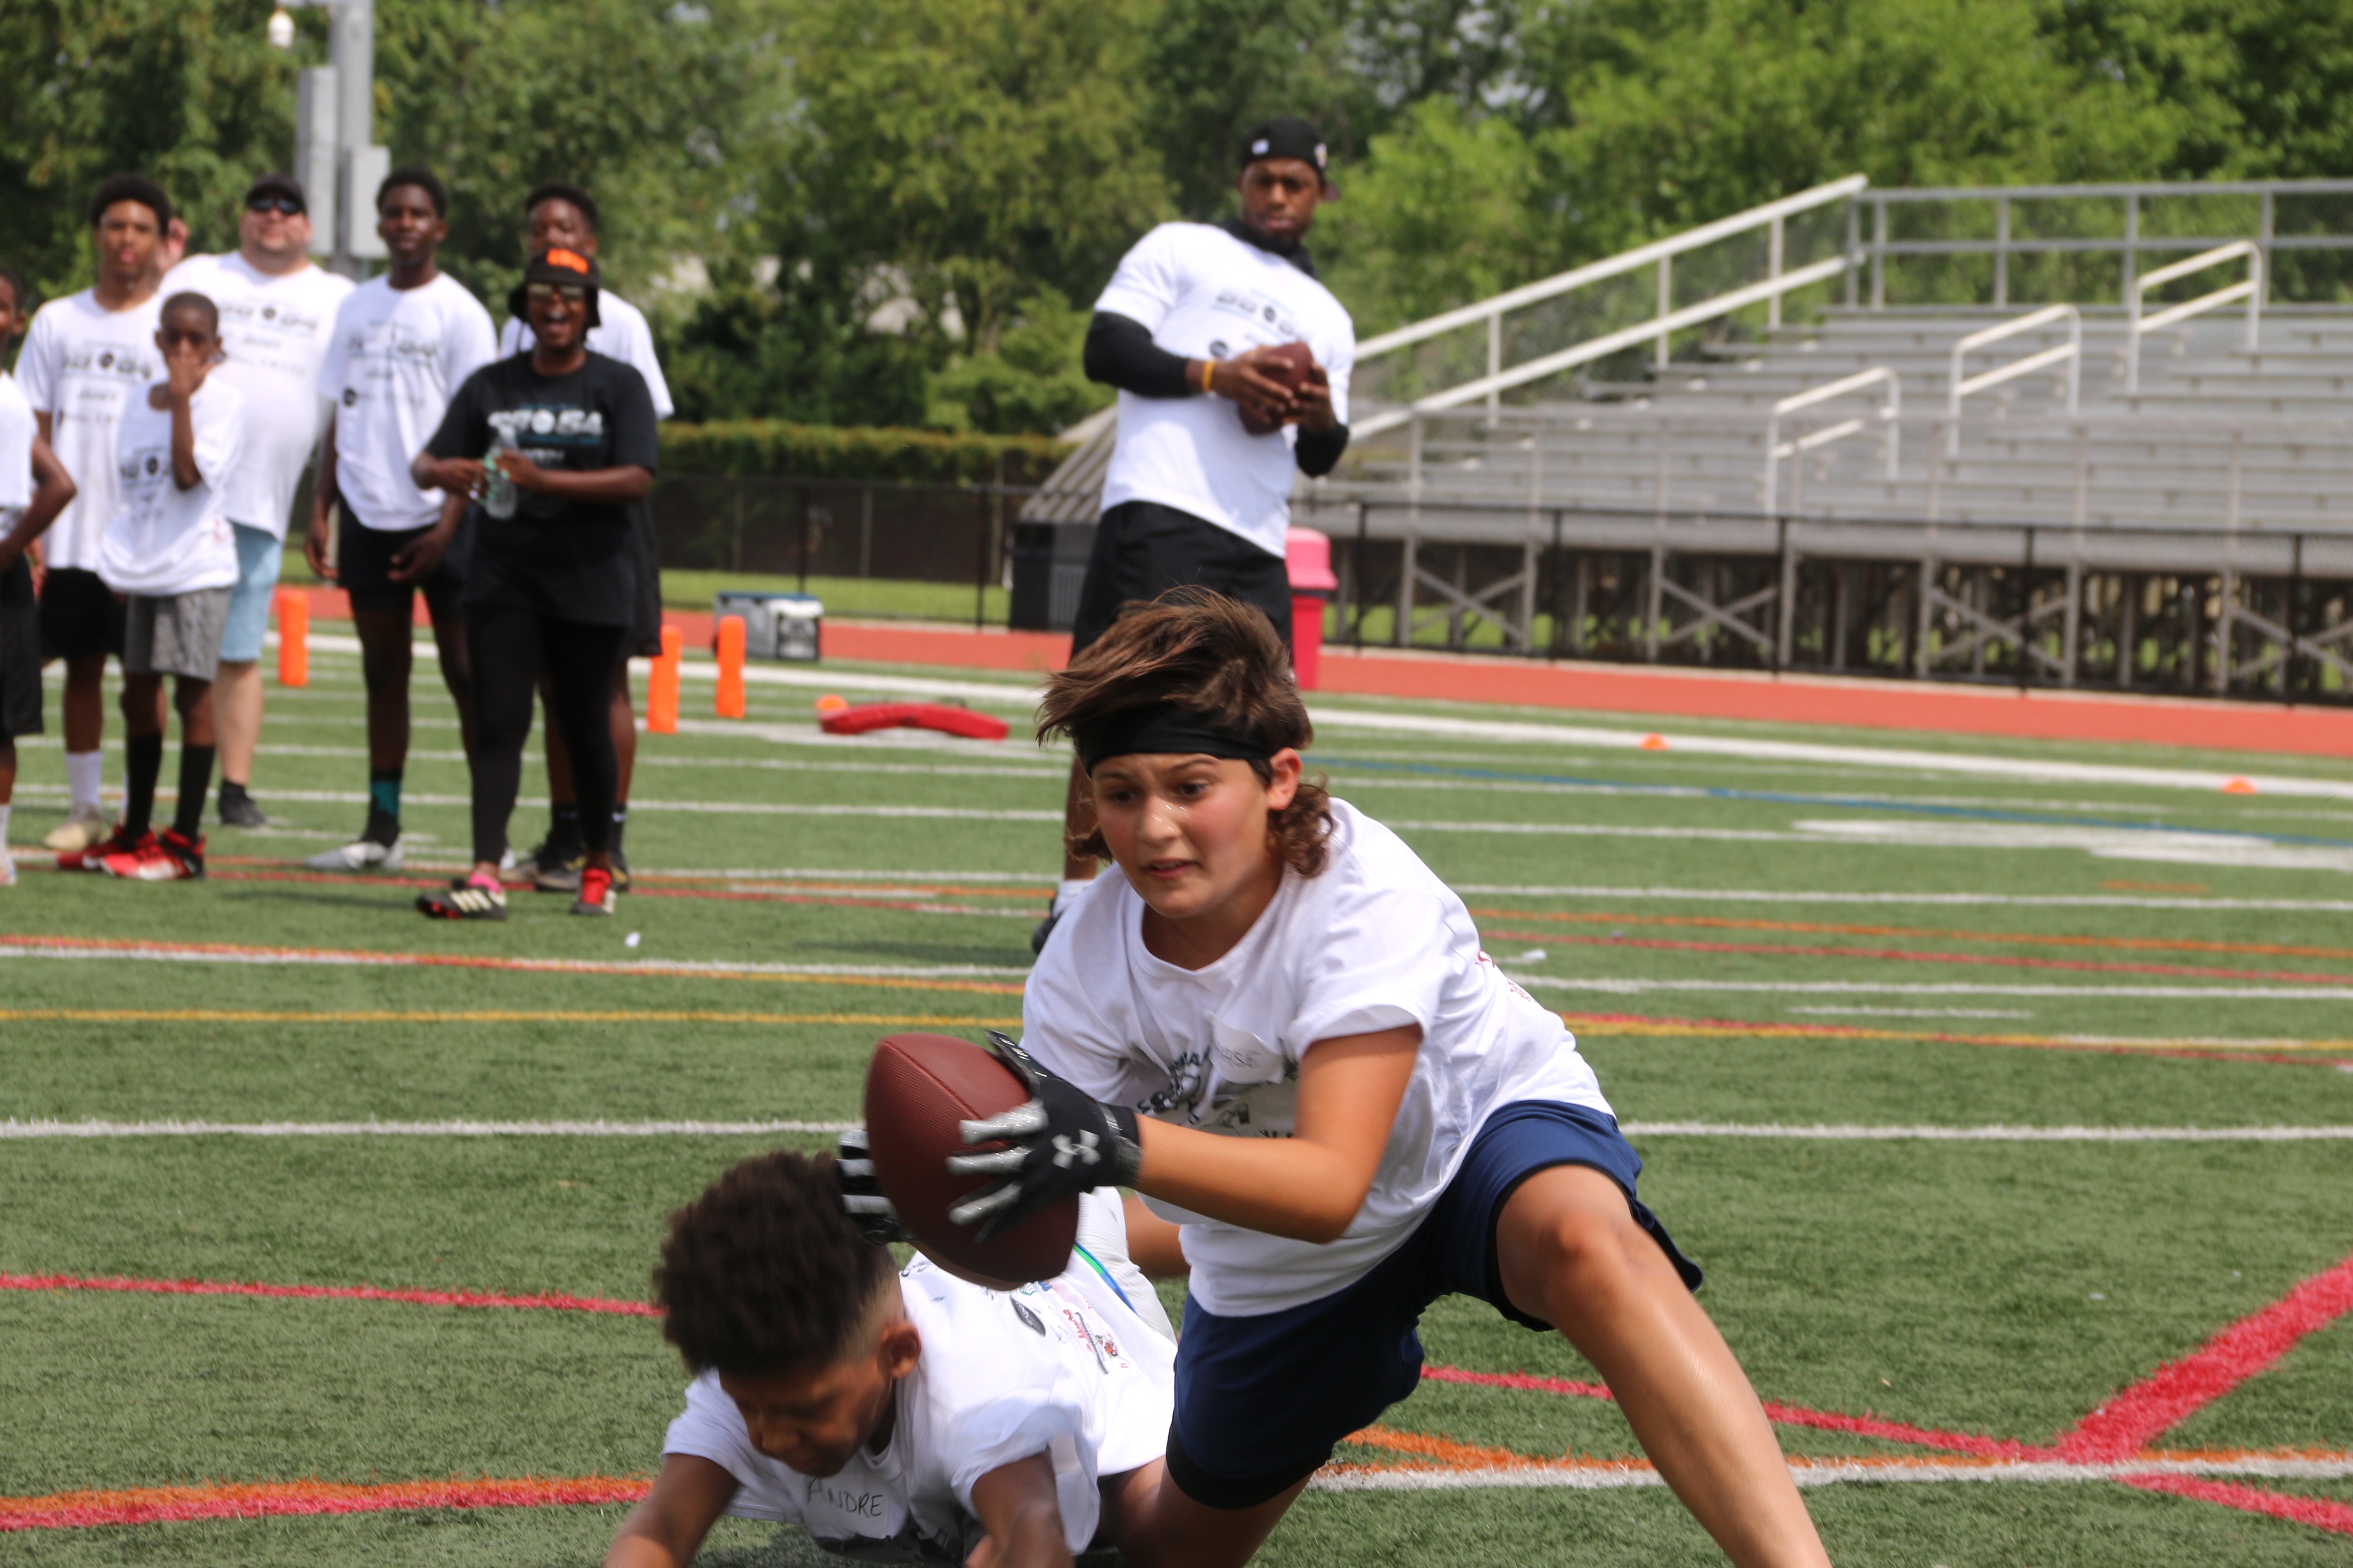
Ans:
{"label": "boy in black headband and navy shorts lunging with football", "polygon": [[1699,1269],[1635,1199],[1560,1016],[1497,973],[1398,835],[1301,778],[1306,705],[1275,628],[1202,590],[1132,607],[1047,684],[1120,867],[1031,973],[1007,1063],[1026,1107],[967,1121],[1007,1180],[981,1239],[1132,1185],[1191,1260],[1167,1479],[1139,1533],[1242,1563],[1332,1455],[1414,1392],[1414,1326],[1475,1295],[1558,1328],[1744,1568],[1828,1559]]}

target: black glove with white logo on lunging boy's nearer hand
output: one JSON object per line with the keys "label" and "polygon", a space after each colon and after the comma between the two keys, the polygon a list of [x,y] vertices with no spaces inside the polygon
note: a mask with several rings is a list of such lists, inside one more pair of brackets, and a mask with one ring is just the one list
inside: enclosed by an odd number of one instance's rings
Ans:
{"label": "black glove with white logo on lunging boy's nearer hand", "polygon": [[1066,1197],[1094,1187],[1125,1187],[1136,1180],[1136,1171],[1144,1166],[1136,1112],[1125,1105],[1104,1105],[1082,1093],[1068,1079],[1040,1067],[1038,1058],[995,1030],[988,1032],[988,1041],[998,1048],[998,1060],[1012,1067],[1014,1077],[1031,1091],[1031,1103],[1016,1105],[1002,1117],[962,1124],[965,1143],[1002,1138],[1014,1147],[998,1154],[948,1157],[951,1175],[1007,1178],[951,1208],[951,1222],[979,1225],[979,1239],[988,1241]]}

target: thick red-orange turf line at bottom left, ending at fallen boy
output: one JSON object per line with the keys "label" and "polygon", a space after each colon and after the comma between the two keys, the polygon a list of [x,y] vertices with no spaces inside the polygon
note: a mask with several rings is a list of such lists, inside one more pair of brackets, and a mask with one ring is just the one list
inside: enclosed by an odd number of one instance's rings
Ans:
{"label": "thick red-orange turf line at bottom left, ending at fallen boy", "polygon": [[0,1497],[0,1530],[71,1530],[104,1523],[184,1523],[191,1519],[285,1519],[294,1514],[384,1514],[395,1509],[532,1509],[551,1505],[638,1502],[652,1481],[638,1476],[525,1476],[515,1481],[261,1481],[252,1486],[134,1486],[122,1490]]}

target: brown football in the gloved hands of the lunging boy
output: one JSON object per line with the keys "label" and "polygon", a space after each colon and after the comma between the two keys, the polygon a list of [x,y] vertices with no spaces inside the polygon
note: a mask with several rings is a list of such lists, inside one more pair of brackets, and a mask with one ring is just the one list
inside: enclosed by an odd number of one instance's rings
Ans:
{"label": "brown football in the gloved hands of the lunging boy", "polygon": [[1078,1244],[1078,1199],[1033,1213],[981,1244],[976,1227],[948,1222],[948,1211],[998,1185],[1000,1175],[948,1175],[951,1154],[1002,1150],[965,1145],[960,1121],[995,1117],[1028,1103],[1012,1067],[967,1039],[889,1034],[866,1067],[866,1147],[882,1194],[932,1262],[984,1286],[1009,1291],[1052,1279]]}

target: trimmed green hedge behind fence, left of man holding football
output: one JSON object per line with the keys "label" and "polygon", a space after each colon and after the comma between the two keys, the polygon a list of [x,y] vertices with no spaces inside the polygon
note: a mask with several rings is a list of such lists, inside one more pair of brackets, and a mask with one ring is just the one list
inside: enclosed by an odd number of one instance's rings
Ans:
{"label": "trimmed green hedge behind fence, left of man holding football", "polygon": [[[729,418],[661,428],[661,468],[680,475],[795,475],[929,484],[1038,484],[1068,456],[1052,435],[962,435]],[[1002,468],[1000,468],[1002,463]]]}

